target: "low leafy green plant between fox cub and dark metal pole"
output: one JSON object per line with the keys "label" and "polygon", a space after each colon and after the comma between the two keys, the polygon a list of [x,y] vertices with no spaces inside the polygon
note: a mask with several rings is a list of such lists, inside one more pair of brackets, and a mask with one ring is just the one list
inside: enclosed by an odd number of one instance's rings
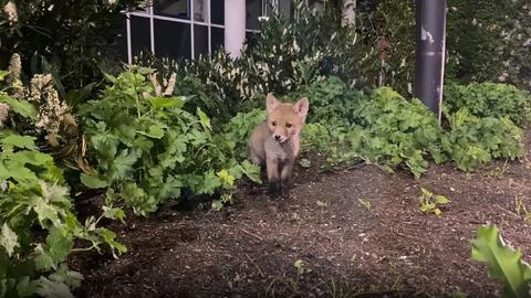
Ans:
{"label": "low leafy green plant between fox cub and dark metal pole", "polygon": [[337,78],[305,91],[312,103],[309,120],[315,123],[302,132],[303,148],[324,151],[332,167],[363,160],[389,169],[404,166],[418,178],[428,167],[427,158],[446,160],[442,129],[417,99],[406,100],[386,87],[367,96]]}

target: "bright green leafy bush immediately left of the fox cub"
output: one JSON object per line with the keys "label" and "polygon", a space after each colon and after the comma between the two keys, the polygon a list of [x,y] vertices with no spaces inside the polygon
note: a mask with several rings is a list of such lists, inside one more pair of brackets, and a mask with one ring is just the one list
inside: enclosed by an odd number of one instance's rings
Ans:
{"label": "bright green leafy bush immediately left of the fox cub", "polygon": [[95,171],[81,175],[85,185],[107,188],[110,204],[146,215],[167,199],[223,191],[222,170],[258,180],[258,167],[236,160],[235,143],[212,131],[201,109],[191,114],[183,98],[156,96],[150,75],[142,67],[107,75],[112,85],[80,108],[95,161]]}

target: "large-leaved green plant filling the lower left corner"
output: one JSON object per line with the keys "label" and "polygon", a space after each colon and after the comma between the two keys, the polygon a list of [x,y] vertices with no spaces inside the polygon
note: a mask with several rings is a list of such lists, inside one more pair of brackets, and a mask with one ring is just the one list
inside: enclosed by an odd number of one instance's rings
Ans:
{"label": "large-leaved green plant filling the lower left corner", "polygon": [[[10,113],[37,117],[23,99],[0,95],[0,102]],[[121,216],[108,209],[102,217]],[[76,219],[62,171],[39,151],[35,137],[0,130],[0,297],[72,297],[82,276],[66,265],[71,252],[126,251],[98,222]]]}

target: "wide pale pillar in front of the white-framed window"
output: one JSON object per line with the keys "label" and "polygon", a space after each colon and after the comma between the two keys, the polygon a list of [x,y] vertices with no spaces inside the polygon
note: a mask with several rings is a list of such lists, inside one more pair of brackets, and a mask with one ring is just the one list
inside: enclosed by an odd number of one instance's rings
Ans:
{"label": "wide pale pillar in front of the white-framed window", "polygon": [[225,51],[241,56],[246,41],[246,0],[225,0]]}

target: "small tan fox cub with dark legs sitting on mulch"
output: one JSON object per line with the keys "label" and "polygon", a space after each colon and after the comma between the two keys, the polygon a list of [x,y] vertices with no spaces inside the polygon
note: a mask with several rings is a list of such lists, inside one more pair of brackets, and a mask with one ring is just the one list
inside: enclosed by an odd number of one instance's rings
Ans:
{"label": "small tan fox cub with dark legs sitting on mulch", "polygon": [[268,120],[252,131],[249,156],[252,162],[266,166],[270,190],[285,190],[291,185],[291,170],[299,153],[299,132],[310,104],[306,97],[295,104],[280,103],[268,94],[266,106]]}

